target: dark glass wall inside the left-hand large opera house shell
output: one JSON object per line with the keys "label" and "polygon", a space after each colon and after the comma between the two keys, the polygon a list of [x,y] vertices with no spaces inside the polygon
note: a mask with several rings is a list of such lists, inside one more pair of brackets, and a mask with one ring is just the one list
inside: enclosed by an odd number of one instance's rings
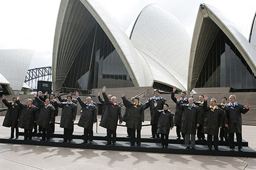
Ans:
{"label": "dark glass wall inside the left-hand large opera house shell", "polygon": [[71,63],[63,87],[90,90],[102,86],[134,87],[134,84],[112,42],[96,24]]}

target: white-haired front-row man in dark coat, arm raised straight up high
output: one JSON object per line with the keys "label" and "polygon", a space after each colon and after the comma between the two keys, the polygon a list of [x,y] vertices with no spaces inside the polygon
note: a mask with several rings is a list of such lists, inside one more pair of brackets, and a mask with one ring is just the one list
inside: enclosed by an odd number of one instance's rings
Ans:
{"label": "white-haired front-row man in dark coat, arm raised straight up high", "polygon": [[[106,86],[103,87],[102,95],[105,101],[109,101],[108,96],[105,93]],[[119,118],[119,124],[122,124],[121,107],[117,103],[117,97],[113,96],[112,101],[106,103],[106,110],[101,118],[100,126],[107,129],[107,145],[115,145],[117,141],[117,121]]]}

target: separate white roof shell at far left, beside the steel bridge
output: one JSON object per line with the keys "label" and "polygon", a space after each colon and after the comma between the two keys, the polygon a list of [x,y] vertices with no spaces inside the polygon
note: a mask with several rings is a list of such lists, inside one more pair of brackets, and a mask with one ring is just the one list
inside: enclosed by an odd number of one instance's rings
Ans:
{"label": "separate white roof shell at far left, beside the steel bridge", "polygon": [[0,73],[10,82],[13,91],[22,90],[34,50],[0,50]]}

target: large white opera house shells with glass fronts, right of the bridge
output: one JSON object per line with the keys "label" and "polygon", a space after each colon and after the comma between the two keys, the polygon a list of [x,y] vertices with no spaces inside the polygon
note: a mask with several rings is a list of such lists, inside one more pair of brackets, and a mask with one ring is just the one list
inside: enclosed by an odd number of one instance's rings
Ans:
{"label": "large white opera house shells with glass fronts, right of the bridge", "polygon": [[148,5],[125,32],[97,1],[63,0],[53,45],[53,89],[255,89],[254,24],[248,41],[222,12],[202,4],[191,40],[174,15]]}

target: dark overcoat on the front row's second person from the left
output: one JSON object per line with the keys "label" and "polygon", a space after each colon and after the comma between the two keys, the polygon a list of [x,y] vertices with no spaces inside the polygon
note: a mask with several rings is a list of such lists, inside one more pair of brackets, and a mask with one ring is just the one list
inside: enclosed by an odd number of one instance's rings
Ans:
{"label": "dark overcoat on the front row's second person from the left", "polygon": [[34,127],[34,122],[36,121],[36,113],[38,111],[38,107],[35,105],[31,105],[31,107],[28,107],[26,104],[20,104],[20,114],[19,114],[19,123],[18,127],[32,130]]}

